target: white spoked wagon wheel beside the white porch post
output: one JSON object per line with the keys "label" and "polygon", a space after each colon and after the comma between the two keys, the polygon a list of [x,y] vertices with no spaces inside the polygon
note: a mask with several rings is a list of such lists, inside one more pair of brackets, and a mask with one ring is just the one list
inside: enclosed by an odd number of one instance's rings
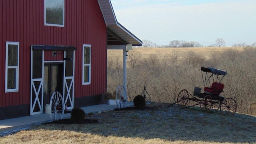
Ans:
{"label": "white spoked wagon wheel beside the white porch post", "polygon": [[125,108],[127,106],[127,94],[122,85],[116,88],[116,105],[118,108]]}

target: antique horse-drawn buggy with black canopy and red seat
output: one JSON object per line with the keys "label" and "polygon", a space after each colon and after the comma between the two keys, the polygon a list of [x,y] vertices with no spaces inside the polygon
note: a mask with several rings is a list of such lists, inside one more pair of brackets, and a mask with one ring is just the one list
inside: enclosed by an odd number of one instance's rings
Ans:
{"label": "antique horse-drawn buggy with black canopy and red seat", "polygon": [[[202,79],[204,83],[204,92],[202,88],[195,87],[193,94],[188,94],[187,90],[181,90],[178,94],[177,104],[185,106],[189,101],[194,101],[196,105],[200,105],[201,110],[218,110],[222,114],[233,115],[236,112],[236,101],[233,98],[224,98],[220,95],[223,92],[224,84],[220,83],[227,72],[215,68],[201,68]],[[208,86],[207,86],[208,85]],[[190,106],[188,106],[190,107]]]}

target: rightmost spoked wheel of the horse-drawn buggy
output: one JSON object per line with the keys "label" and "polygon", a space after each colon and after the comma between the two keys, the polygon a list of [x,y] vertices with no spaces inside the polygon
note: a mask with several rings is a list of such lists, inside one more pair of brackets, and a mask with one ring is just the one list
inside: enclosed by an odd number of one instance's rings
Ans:
{"label": "rightmost spoked wheel of the horse-drawn buggy", "polygon": [[222,114],[235,114],[236,112],[236,101],[233,98],[225,98],[220,103],[220,112]]}

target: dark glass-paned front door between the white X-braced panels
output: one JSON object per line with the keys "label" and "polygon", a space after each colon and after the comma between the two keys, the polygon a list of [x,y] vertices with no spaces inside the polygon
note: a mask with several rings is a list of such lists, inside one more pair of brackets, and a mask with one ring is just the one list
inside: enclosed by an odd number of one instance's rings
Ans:
{"label": "dark glass-paned front door between the white X-braced panels", "polygon": [[63,64],[44,64],[44,112],[45,105],[50,103],[52,93],[60,92],[63,94]]}

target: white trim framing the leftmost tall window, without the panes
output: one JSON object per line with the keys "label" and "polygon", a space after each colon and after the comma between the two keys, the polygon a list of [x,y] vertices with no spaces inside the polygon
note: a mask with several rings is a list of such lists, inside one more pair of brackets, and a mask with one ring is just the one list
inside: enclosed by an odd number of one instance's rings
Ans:
{"label": "white trim framing the leftmost tall window, without the panes", "polygon": [[[8,45],[18,45],[18,64],[17,66],[8,66]],[[18,92],[19,91],[19,66],[20,66],[20,42],[6,42],[5,49],[5,92]],[[8,68],[16,68],[16,88],[8,89]]]}

